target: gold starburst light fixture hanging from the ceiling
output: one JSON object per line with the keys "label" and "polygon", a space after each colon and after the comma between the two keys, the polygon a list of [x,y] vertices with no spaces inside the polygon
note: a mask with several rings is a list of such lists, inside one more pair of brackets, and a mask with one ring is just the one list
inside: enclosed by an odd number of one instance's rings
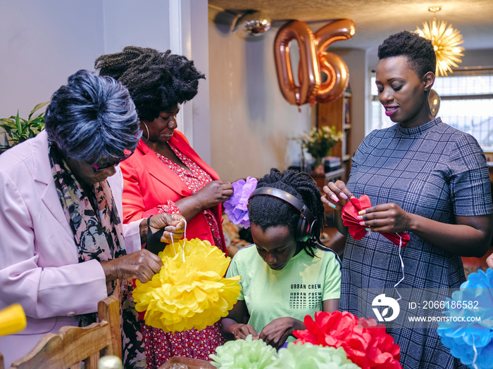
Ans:
{"label": "gold starburst light fixture hanging from the ceiling", "polygon": [[441,8],[432,6],[429,11],[433,12],[433,20],[431,22],[423,22],[423,30],[417,27],[416,32],[421,37],[432,41],[437,56],[437,70],[435,75],[446,76],[447,72],[452,72],[451,66],[458,67],[458,63],[462,63],[461,56],[464,56],[462,51],[464,48],[458,46],[463,44],[461,32],[454,30],[451,24],[447,25],[444,20],[437,23],[436,12]]}

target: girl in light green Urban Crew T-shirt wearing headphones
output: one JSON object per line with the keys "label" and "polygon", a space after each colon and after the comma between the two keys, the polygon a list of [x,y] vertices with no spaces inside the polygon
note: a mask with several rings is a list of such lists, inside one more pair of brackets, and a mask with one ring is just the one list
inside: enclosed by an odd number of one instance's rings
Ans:
{"label": "girl in light green Urban Crew T-shirt wearing headphones", "polygon": [[248,209],[255,243],[239,250],[227,270],[227,278],[242,277],[242,294],[223,318],[223,335],[253,335],[279,349],[294,341],[294,330],[306,329],[306,315],[338,309],[340,261],[320,245],[324,207],[308,174],[270,169]]}

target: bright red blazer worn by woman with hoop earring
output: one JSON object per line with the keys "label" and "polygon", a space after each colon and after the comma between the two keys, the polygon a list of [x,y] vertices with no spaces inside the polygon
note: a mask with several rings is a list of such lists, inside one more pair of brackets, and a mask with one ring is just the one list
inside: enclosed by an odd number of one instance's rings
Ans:
{"label": "bright red blazer worn by woman with hoop earring", "polygon": [[[196,162],[214,180],[219,179],[216,171],[201,160],[180,131],[175,130],[170,143]],[[139,141],[135,153],[121,162],[120,167],[125,181],[123,185],[123,223],[125,224],[158,214],[158,205],[166,205],[168,200],[176,202],[192,195],[192,191],[185,183],[166,164],[163,164],[142,140]],[[211,210],[218,221],[221,239],[224,240],[221,205]],[[197,214],[187,224],[187,239],[192,238],[208,240],[214,245],[211,228],[203,212]],[[223,252],[227,252],[223,245],[217,246]]]}

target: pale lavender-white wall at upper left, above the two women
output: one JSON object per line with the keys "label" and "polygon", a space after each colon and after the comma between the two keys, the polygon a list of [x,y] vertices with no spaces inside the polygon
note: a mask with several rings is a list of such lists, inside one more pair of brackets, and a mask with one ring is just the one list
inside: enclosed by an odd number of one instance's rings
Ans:
{"label": "pale lavender-white wall at upper left, above the two women", "polygon": [[[152,11],[149,11],[149,8]],[[0,117],[27,117],[104,53],[170,46],[168,1],[1,1]]]}

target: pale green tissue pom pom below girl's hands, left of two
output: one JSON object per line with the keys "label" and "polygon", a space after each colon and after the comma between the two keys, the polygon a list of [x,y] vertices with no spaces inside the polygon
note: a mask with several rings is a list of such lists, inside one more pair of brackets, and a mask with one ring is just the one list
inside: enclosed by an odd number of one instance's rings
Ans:
{"label": "pale green tissue pom pom below girl's hands, left of two", "polygon": [[228,341],[216,349],[216,355],[209,357],[212,364],[221,369],[269,369],[277,359],[275,349],[261,339],[236,339]]}

